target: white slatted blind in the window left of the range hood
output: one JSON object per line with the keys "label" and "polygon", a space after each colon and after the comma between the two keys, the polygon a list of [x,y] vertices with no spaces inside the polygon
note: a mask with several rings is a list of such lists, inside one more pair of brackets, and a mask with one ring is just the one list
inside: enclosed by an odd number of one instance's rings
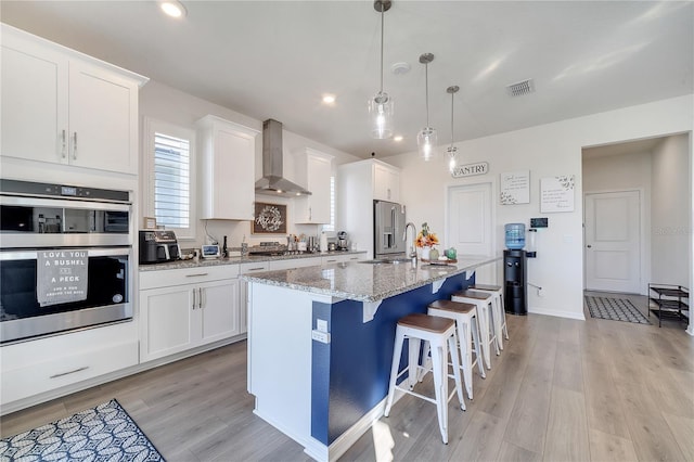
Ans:
{"label": "white slatted blind in the window left of the range hood", "polygon": [[167,229],[190,228],[190,140],[154,133],[154,216]]}

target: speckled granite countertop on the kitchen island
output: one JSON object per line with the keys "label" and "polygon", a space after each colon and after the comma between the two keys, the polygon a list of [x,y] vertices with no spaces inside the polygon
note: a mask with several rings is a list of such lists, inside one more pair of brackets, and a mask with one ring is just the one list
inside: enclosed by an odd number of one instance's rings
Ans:
{"label": "speckled granite countertop on the kitchen island", "polygon": [[349,298],[358,301],[377,301],[411,291],[434,281],[474,270],[501,257],[463,257],[458,264],[428,265],[411,262],[367,264],[350,261],[326,267],[266,271],[242,275],[248,282],[290,287],[297,291]]}

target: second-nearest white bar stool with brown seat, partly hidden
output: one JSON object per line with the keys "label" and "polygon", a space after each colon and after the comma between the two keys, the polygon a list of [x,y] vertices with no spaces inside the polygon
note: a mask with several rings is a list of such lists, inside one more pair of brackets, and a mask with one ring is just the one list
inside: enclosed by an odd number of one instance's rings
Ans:
{"label": "second-nearest white bar stool with brown seat, partly hidden", "polygon": [[[460,364],[463,370],[463,382],[467,398],[473,399],[473,367],[477,364],[479,375],[485,378],[485,368],[481,364],[481,344],[479,343],[479,323],[477,322],[477,307],[453,300],[436,300],[428,306],[428,315],[455,320],[458,326],[458,344],[460,347]],[[473,348],[474,344],[474,348]],[[424,349],[426,355],[426,349]],[[472,360],[473,351],[475,360]]]}

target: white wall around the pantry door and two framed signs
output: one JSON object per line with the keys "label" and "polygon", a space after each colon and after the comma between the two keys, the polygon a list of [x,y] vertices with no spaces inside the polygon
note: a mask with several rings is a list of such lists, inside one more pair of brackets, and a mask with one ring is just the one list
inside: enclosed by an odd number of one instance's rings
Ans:
{"label": "white wall around the pantry door and two framed signs", "polygon": [[[415,223],[427,221],[440,235],[445,232],[448,185],[491,181],[498,197],[500,174],[529,169],[530,204],[499,205],[499,201],[496,202],[497,252],[503,249],[504,223],[528,223],[531,217],[548,217],[549,228],[538,235],[538,258],[528,265],[528,281],[541,285],[544,296],[538,297],[536,291],[528,291],[528,310],[583,319],[582,149],[690,132],[694,129],[693,107],[694,95],[680,97],[457,143],[459,164],[489,163],[489,174],[479,177],[451,178],[442,156],[424,163],[414,153],[408,153],[384,161],[402,168],[401,197],[408,206],[408,219]],[[687,152],[691,158],[691,144]],[[540,214],[539,180],[558,175],[576,177],[575,209]]]}

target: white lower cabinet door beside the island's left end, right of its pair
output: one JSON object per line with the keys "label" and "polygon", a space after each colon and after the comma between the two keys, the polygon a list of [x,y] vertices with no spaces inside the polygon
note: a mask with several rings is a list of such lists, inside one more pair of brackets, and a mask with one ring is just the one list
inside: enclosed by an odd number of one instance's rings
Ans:
{"label": "white lower cabinet door beside the island's left end, right of its pair", "polygon": [[241,333],[239,328],[239,280],[215,281],[198,287],[201,345]]}

